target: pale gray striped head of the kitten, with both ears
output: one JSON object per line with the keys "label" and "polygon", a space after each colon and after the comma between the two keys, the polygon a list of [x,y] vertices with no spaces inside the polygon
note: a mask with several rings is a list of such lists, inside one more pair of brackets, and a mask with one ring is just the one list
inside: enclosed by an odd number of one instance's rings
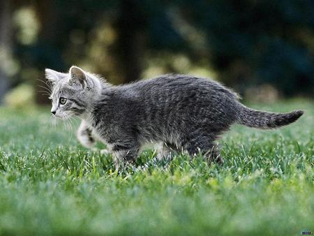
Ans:
{"label": "pale gray striped head of the kitten, with both ears", "polygon": [[56,117],[81,116],[100,96],[100,80],[77,66],[72,66],[68,73],[46,69],[45,74],[53,84],[51,112]]}

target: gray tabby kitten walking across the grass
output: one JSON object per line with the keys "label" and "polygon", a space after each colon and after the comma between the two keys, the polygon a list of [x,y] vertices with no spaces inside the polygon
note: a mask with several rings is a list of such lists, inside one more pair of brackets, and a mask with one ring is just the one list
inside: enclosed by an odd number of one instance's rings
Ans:
{"label": "gray tabby kitten walking across the grass", "polygon": [[52,114],[80,117],[77,138],[82,145],[104,142],[117,165],[134,161],[147,142],[163,142],[168,152],[201,153],[209,161],[220,161],[214,141],[230,125],[278,128],[303,114],[246,108],[230,89],[191,75],[162,75],[114,86],[76,66],[68,73],[45,73],[54,84]]}

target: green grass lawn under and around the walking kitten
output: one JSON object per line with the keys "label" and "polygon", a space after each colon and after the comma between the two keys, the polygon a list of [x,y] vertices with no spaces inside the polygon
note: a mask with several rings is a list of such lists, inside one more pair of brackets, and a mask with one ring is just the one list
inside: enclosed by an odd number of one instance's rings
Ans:
{"label": "green grass lawn under and around the walking kitten", "polygon": [[[176,156],[115,172],[110,156],[80,146],[49,108],[0,108],[0,235],[298,235],[314,232],[314,105],[274,131],[233,126],[225,163]],[[143,163],[147,163],[143,167]]]}

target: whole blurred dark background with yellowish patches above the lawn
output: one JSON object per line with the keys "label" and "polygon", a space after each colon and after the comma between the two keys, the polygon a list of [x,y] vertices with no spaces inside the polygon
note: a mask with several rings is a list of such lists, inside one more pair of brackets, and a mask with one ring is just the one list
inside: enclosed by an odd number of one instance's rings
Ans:
{"label": "whole blurred dark background with yellowish patches above the lawn", "polygon": [[113,84],[214,78],[250,101],[314,94],[314,1],[0,1],[0,101],[49,103],[44,69]]}

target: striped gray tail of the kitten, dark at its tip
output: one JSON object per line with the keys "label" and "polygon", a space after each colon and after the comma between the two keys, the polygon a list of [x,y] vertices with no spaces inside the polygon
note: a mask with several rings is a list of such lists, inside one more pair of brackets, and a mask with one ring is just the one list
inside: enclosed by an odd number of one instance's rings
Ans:
{"label": "striped gray tail of the kitten, dark at its tip", "polygon": [[238,123],[253,128],[279,128],[286,126],[299,119],[304,113],[302,110],[288,113],[274,113],[253,110],[245,106],[242,108]]}

